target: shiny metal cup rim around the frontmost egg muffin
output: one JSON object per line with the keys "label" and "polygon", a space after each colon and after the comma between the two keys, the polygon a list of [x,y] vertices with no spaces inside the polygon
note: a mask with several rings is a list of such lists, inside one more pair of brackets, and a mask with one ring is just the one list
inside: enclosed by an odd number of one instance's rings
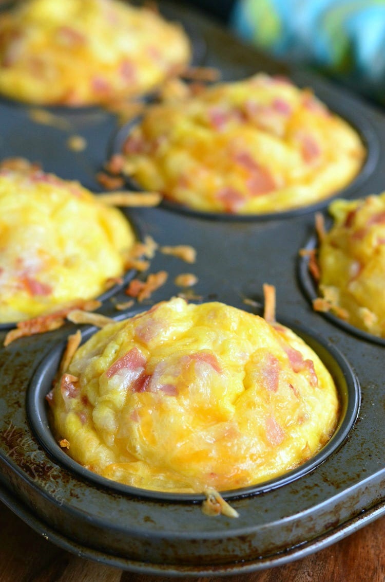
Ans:
{"label": "shiny metal cup rim around the frontmost egg muffin", "polygon": [[[129,317],[132,317],[132,315],[135,315],[136,313],[141,312],[138,311],[132,313]],[[121,315],[120,317],[116,317],[115,320],[121,321],[125,318],[127,318],[127,315]],[[285,325],[286,327],[293,329],[290,324]],[[92,327],[82,333],[82,343],[88,340],[95,331],[95,328]],[[314,349],[328,368],[330,374],[332,374],[334,382],[336,383],[340,400],[340,417],[336,430],[330,438],[330,441],[326,443],[326,445],[316,453],[314,457],[301,464],[296,469],[286,472],[280,477],[264,481],[257,485],[250,485],[249,487],[241,489],[225,491],[224,496],[226,499],[267,492],[276,487],[282,487],[283,485],[302,477],[309,471],[312,471],[319,464],[323,463],[334,450],[339,448],[346,439],[348,432],[351,430],[357,418],[360,399],[359,384],[358,379],[355,377],[355,374],[352,372],[346,359],[332,345],[328,346],[321,338],[315,339],[310,331],[304,330],[303,328],[295,328],[293,331],[303,338],[312,349]],[[66,467],[66,469],[77,473],[81,478],[93,481],[95,484],[102,485],[103,487],[115,489],[123,494],[160,499],[161,501],[202,501],[202,499],[204,499],[203,494],[171,494],[168,492],[129,487],[128,485],[111,481],[85,469],[79,463],[71,459],[71,457],[60,448],[53,436],[52,427],[49,425],[48,404],[45,400],[45,396],[52,389],[53,380],[57,374],[65,346],[66,344],[64,344],[64,346],[63,344],[57,345],[51,350],[48,356],[46,356],[33,375],[27,393],[27,414],[29,422],[33,431],[37,435],[39,442],[44,446],[49,455],[62,464],[63,467]]]}

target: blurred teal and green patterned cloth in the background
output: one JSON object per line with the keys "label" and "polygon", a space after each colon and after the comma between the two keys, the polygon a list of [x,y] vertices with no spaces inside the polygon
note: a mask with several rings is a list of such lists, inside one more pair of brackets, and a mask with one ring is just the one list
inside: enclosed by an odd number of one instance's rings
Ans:
{"label": "blurred teal and green patterned cloth in the background", "polygon": [[238,0],[240,37],[385,104],[385,0]]}

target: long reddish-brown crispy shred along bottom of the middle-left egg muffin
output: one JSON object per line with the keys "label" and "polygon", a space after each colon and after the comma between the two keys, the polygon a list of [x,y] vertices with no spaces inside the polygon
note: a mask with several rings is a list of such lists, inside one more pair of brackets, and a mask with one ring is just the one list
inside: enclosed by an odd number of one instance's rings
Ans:
{"label": "long reddish-brown crispy shred along bottom of the middle-left egg muffin", "polygon": [[30,320],[19,321],[15,329],[11,329],[5,336],[4,346],[9,346],[10,343],[14,342],[15,339],[24,338],[27,336],[35,335],[36,333],[45,333],[46,331],[53,331],[64,325],[64,321],[70,311],[75,308],[82,309],[84,311],[93,311],[100,307],[100,301],[96,299],[91,300],[80,300],[74,301],[67,307],[63,307],[60,310],[53,311],[48,315],[39,315]]}

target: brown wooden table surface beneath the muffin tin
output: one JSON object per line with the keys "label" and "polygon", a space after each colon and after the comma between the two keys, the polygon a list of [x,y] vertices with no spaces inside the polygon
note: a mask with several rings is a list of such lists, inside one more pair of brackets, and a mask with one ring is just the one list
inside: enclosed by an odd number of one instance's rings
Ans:
{"label": "brown wooden table surface beneath the muffin tin", "polygon": [[0,503],[1,582],[384,582],[385,517],[285,566],[231,577],[168,578],[122,572],[44,540]]}

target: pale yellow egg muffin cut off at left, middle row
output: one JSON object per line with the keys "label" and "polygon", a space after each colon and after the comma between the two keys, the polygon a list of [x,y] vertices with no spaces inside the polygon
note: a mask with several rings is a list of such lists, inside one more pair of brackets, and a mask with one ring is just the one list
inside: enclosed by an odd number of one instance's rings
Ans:
{"label": "pale yellow egg muffin cut off at left, middle row", "polygon": [[90,299],[124,273],[127,219],[78,182],[28,162],[0,166],[0,322]]}

